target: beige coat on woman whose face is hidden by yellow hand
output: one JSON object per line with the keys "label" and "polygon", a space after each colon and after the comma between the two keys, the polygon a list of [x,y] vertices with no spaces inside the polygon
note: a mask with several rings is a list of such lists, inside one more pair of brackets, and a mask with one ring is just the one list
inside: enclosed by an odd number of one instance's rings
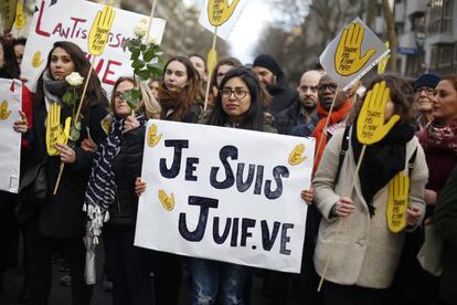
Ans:
{"label": "beige coat on woman whose face is hidden by yellow hand", "polygon": [[[333,204],[341,197],[349,197],[351,180],[355,171],[354,156],[349,149],[342,164],[340,179],[334,186],[339,154],[341,150],[342,132],[337,133],[326,147],[322,160],[313,180],[315,202],[322,213],[319,236],[315,252],[315,265],[322,275],[326,261],[330,257],[326,280],[343,285],[358,285],[371,288],[386,288],[391,285],[404,242],[404,233],[392,233],[386,221],[389,185],[373,198],[375,214],[370,218],[366,203],[362,197],[359,179],[352,200],[354,212],[341,220],[329,219]],[[428,169],[424,151],[416,137],[406,144],[407,162],[417,148],[413,176],[411,179],[411,203],[425,210],[424,188],[427,182]],[[407,169],[406,169],[407,172]],[[373,172],[373,175],[376,175]],[[407,173],[410,176],[410,173]],[[338,223],[341,221],[340,232]]]}

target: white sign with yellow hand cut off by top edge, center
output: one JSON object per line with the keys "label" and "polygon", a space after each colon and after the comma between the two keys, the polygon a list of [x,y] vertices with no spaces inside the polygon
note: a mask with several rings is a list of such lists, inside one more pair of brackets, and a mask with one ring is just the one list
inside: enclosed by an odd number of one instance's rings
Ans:
{"label": "white sign with yellow hand cut off by top edge, center", "polygon": [[217,36],[227,40],[247,4],[247,0],[205,0],[200,13],[199,23]]}

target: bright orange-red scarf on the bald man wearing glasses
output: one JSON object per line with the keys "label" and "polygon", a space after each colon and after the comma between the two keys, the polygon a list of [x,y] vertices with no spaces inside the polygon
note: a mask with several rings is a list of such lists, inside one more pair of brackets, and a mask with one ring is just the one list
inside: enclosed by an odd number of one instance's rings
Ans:
{"label": "bright orange-red scarf on the bald man wearing glasses", "polygon": [[[338,109],[333,109],[331,112],[328,126],[344,120],[351,111],[352,103],[350,99],[346,99],[344,104],[342,104],[341,107],[339,107]],[[317,107],[317,113],[319,115],[319,123],[317,124],[315,130],[311,134],[311,136],[316,138],[315,166],[312,169],[313,173],[316,172],[320,164],[320,159],[322,158],[323,150],[327,146],[327,133],[323,134],[323,127],[326,126],[327,117],[329,116],[329,112],[322,108],[320,105],[318,105]],[[317,151],[317,149],[319,148],[319,143],[321,141],[321,137],[323,137],[322,144],[320,145],[319,151]]]}

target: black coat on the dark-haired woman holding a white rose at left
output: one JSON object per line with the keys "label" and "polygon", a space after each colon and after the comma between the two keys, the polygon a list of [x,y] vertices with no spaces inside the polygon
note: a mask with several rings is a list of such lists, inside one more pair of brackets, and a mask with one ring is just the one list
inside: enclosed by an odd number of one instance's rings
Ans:
{"label": "black coat on the dark-haired woman holding a white rose at left", "polygon": [[[40,213],[40,231],[42,234],[51,238],[76,238],[85,234],[86,215],[83,209],[84,196],[87,187],[93,155],[81,148],[81,141],[88,137],[95,144],[102,143],[106,138],[106,133],[102,127],[102,120],[107,116],[107,101],[94,101],[91,96],[87,98],[87,106],[83,112],[82,129],[79,139],[76,143],[76,161],[67,164],[61,178],[57,193],[52,194],[59,175],[60,157],[49,157],[45,145],[45,120],[46,108],[44,101],[34,109],[33,116],[33,158],[31,164],[45,161],[47,173],[47,200],[38,206],[34,202],[22,202],[23,211],[19,212],[32,215],[34,212]],[[64,120],[68,109],[63,109],[61,124]],[[87,133],[88,132],[88,133]]]}

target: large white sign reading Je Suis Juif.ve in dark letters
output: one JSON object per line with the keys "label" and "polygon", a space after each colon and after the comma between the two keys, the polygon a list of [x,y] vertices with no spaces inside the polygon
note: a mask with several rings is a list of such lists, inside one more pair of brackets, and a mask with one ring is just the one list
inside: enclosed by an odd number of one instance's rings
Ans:
{"label": "large white sign reading Je Suis Juif.ve in dark letters", "polygon": [[149,120],[135,245],[300,272],[313,139]]}

